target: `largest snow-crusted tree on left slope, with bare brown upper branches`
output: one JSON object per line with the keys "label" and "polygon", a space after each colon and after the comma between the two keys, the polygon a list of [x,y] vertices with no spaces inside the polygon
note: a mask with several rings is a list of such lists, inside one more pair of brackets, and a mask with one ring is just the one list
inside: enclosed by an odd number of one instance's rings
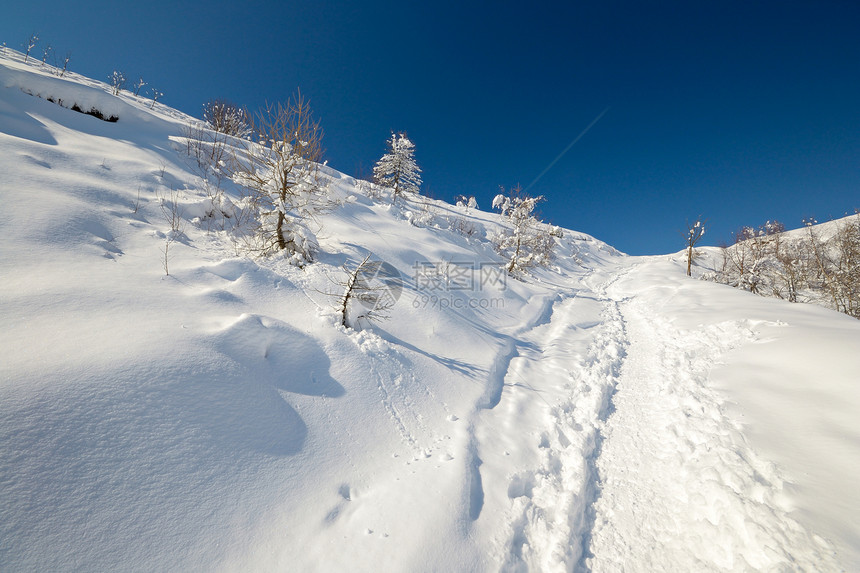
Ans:
{"label": "largest snow-crusted tree on left slope, with bare brown upper branches", "polygon": [[285,251],[302,265],[313,260],[302,225],[329,206],[328,180],[319,170],[323,155],[319,121],[299,92],[286,104],[268,105],[251,119],[257,141],[248,141],[230,169],[232,179],[250,193],[257,212],[257,249]]}

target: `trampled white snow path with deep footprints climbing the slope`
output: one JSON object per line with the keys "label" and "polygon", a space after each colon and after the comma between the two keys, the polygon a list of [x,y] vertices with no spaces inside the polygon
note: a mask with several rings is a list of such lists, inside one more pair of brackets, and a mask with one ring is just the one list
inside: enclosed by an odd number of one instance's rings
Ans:
{"label": "trampled white snow path with deep footprints climbing the slope", "polygon": [[655,306],[671,289],[637,293],[642,264],[555,302],[479,412],[471,507],[490,568],[840,570],[708,384],[749,324],[674,326]]}

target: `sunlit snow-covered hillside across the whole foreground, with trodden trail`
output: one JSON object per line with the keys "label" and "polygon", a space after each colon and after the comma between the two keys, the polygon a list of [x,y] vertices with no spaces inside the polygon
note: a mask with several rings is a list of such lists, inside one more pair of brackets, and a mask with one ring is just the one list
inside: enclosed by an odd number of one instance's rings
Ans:
{"label": "sunlit snow-covered hillside across the whole foreground, with trodden trail", "polygon": [[0,570],[860,569],[860,321],[575,231],[514,280],[329,168],[316,262],[252,257],[150,104],[0,57]]}

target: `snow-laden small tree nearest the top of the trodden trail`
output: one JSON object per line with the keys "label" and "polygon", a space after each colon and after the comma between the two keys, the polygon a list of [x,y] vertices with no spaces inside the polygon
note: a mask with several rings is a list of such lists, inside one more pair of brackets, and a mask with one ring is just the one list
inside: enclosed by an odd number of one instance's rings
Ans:
{"label": "snow-laden small tree nearest the top of the trodden trail", "polygon": [[502,193],[493,199],[493,208],[501,211],[511,224],[511,231],[503,231],[493,238],[496,251],[509,258],[505,270],[518,276],[534,266],[545,266],[552,258],[555,237],[561,229],[539,221],[532,213],[543,196],[530,197],[518,185],[510,195]]}

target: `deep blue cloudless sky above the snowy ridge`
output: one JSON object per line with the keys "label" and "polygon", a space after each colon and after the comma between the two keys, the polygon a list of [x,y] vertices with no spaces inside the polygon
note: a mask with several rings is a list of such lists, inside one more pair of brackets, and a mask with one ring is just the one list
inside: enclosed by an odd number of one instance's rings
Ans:
{"label": "deep blue cloudless sky above the snowy ridge", "polygon": [[[195,116],[300,87],[330,165],[368,170],[391,130],[427,193],[529,185],[546,219],[630,254],[768,219],[860,208],[860,2],[6,2],[0,42],[72,53]],[[41,51],[40,51],[41,54]]]}

